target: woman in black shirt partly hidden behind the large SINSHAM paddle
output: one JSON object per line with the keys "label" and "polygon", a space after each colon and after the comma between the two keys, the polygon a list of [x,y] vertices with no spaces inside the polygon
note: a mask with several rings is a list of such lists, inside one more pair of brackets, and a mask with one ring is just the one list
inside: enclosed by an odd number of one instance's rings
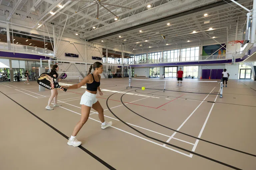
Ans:
{"label": "woman in black shirt partly hidden behind the large SINSHAM paddle", "polygon": [[[59,66],[55,64],[55,65],[52,66],[52,70],[51,70],[50,74],[51,74],[53,77],[58,78],[58,73],[57,73],[58,70],[59,70]],[[60,81],[61,79],[58,79],[58,80]],[[52,89],[52,90],[51,90],[51,93],[52,93],[52,95],[51,95],[51,97],[49,98],[49,101],[48,101],[47,106],[45,107],[45,109],[47,109],[47,110],[53,110],[53,108],[51,107],[51,102],[52,102],[53,99],[54,99],[54,105],[53,105],[53,107],[61,106],[60,104],[57,103],[57,97],[58,97],[58,91],[57,91],[57,89],[56,89],[56,88]]]}

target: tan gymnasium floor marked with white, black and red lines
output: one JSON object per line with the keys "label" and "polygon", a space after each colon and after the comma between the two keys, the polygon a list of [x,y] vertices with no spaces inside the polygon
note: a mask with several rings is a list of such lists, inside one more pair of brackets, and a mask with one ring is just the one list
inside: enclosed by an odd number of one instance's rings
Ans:
{"label": "tan gymnasium floor marked with white, black and red lines", "polygon": [[77,135],[80,147],[67,138],[85,88],[59,91],[62,106],[50,111],[50,90],[39,92],[36,81],[0,83],[0,169],[256,169],[256,83],[228,83],[220,98],[102,79],[97,99],[113,125],[101,129],[92,109]]}

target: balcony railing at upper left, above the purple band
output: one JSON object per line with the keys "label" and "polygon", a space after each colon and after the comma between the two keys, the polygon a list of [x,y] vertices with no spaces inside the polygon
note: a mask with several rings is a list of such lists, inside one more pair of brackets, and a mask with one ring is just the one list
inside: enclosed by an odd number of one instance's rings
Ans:
{"label": "balcony railing at upper left, above the purple band", "polygon": [[20,45],[20,44],[10,44],[10,47],[8,47],[8,43],[6,42],[0,42],[0,50],[10,50],[14,52],[29,52],[33,54],[43,54],[43,55],[50,55],[54,56],[54,52],[49,49],[39,48],[39,47],[33,47],[29,45]]}

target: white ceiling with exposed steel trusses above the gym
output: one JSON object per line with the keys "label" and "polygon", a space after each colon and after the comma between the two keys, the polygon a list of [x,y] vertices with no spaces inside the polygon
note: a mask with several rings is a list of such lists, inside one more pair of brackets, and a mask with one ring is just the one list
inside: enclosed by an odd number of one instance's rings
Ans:
{"label": "white ceiling with exposed steel trusses above the gym", "polygon": [[[11,18],[29,22],[33,24],[33,29],[41,30],[42,27],[38,27],[38,24],[54,23],[56,28],[65,26],[64,36],[65,34],[77,33],[80,39],[90,40],[170,15],[182,14],[184,11],[222,0],[101,0],[101,3],[126,8],[102,4],[113,15],[99,5],[98,19],[97,4],[93,3],[98,0],[87,1],[90,2],[79,0],[0,0],[0,10],[4,11],[0,15],[5,15],[6,20],[9,22],[11,22]],[[252,8],[249,0],[239,0],[237,2],[248,9]],[[151,7],[147,8],[149,4]],[[115,45],[125,44],[126,47],[131,49],[143,49],[149,46],[159,47],[167,43],[181,44],[187,43],[187,41],[203,41],[212,39],[212,37],[216,37],[215,40],[217,42],[225,42],[227,35],[229,35],[229,38],[236,36],[237,21],[237,36],[241,37],[246,20],[247,12],[234,3],[231,4],[233,6],[230,4],[221,5],[143,28],[115,34],[94,42]],[[62,5],[63,8],[58,7],[58,5]],[[86,9],[80,11],[84,7]],[[55,14],[50,14],[51,11]],[[76,11],[80,12],[76,13]],[[68,19],[67,15],[63,13],[69,15]],[[208,16],[204,17],[205,13]],[[114,20],[116,18],[115,15],[118,16],[117,21]],[[210,22],[204,24],[206,20]],[[167,23],[170,23],[170,25],[168,26]],[[93,27],[96,28],[93,29]],[[209,28],[213,28],[213,30],[207,31]],[[140,33],[139,30],[142,32]],[[192,34],[193,31],[196,31],[196,33]],[[165,40],[161,35],[165,36]],[[146,40],[148,42],[145,42]],[[139,46],[140,44],[141,46]]]}

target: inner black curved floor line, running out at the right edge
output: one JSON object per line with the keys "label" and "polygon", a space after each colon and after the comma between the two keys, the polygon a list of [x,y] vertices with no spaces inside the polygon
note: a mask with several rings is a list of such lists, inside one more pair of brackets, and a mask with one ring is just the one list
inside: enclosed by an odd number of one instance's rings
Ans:
{"label": "inner black curved floor line, running out at the right edge", "polygon": [[[131,90],[131,91],[133,91],[133,90]],[[227,146],[224,146],[224,145],[221,145],[221,144],[218,144],[218,143],[214,143],[214,142],[211,142],[211,141],[208,141],[208,140],[205,140],[205,139],[196,137],[196,136],[192,136],[192,135],[190,135],[190,134],[181,132],[181,131],[179,131],[179,130],[175,130],[175,129],[173,129],[173,128],[166,127],[166,126],[164,126],[164,125],[162,125],[162,124],[159,124],[159,123],[157,123],[157,122],[154,122],[154,121],[152,121],[152,120],[150,120],[150,119],[148,119],[148,118],[146,118],[146,117],[144,117],[144,116],[141,116],[140,114],[134,112],[133,110],[131,110],[129,107],[127,107],[127,106],[123,103],[123,100],[122,100],[123,96],[124,96],[126,93],[129,93],[129,92],[131,92],[131,91],[125,92],[125,93],[121,96],[121,102],[122,102],[122,104],[123,104],[127,109],[129,109],[131,112],[135,113],[136,115],[138,115],[138,116],[140,116],[140,117],[142,117],[142,118],[144,118],[144,119],[146,119],[146,120],[148,120],[148,121],[150,121],[150,122],[152,122],[152,123],[154,123],[154,124],[156,124],[156,125],[159,125],[159,126],[161,126],[161,127],[164,127],[164,128],[167,128],[167,129],[170,129],[170,130],[173,130],[173,131],[176,131],[176,132],[181,133],[181,134],[184,134],[184,135],[186,135],[186,136],[193,137],[193,138],[195,138],[195,139],[202,140],[202,141],[207,142],[207,143],[211,143],[211,144],[214,144],[214,145],[217,145],[217,146],[226,148],[226,149],[230,149],[230,150],[233,150],[233,151],[237,151],[237,152],[240,152],[240,153],[244,153],[244,154],[247,154],[247,155],[256,157],[256,155],[254,155],[254,154],[247,153],[247,152],[244,152],[244,151],[241,151],[241,150],[237,150],[237,149],[234,149],[234,148],[231,148],[231,147],[227,147]],[[212,103],[213,103],[213,102],[212,102]]]}

